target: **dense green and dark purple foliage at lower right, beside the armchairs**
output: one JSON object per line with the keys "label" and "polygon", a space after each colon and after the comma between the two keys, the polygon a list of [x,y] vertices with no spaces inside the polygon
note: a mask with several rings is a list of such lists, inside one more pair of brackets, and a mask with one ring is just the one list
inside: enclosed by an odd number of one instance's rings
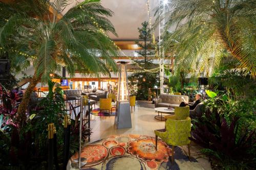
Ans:
{"label": "dense green and dark purple foliage at lower right, beside the armchairs", "polygon": [[205,149],[214,169],[253,169],[256,165],[254,100],[234,100],[208,91],[211,98],[193,120],[191,140]]}

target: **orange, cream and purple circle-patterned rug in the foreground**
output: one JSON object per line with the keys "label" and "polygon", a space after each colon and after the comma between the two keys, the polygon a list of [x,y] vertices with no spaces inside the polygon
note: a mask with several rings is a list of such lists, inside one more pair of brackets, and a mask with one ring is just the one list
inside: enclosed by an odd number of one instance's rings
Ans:
{"label": "orange, cream and purple circle-patterned rug in the foreground", "polygon": [[[144,169],[203,169],[184,155],[179,147],[175,149],[175,163],[170,157],[172,149],[162,140],[155,150],[155,138],[145,135],[112,135],[82,148],[81,169],[98,170],[144,170]],[[67,169],[77,169],[78,153],[70,158]]]}

